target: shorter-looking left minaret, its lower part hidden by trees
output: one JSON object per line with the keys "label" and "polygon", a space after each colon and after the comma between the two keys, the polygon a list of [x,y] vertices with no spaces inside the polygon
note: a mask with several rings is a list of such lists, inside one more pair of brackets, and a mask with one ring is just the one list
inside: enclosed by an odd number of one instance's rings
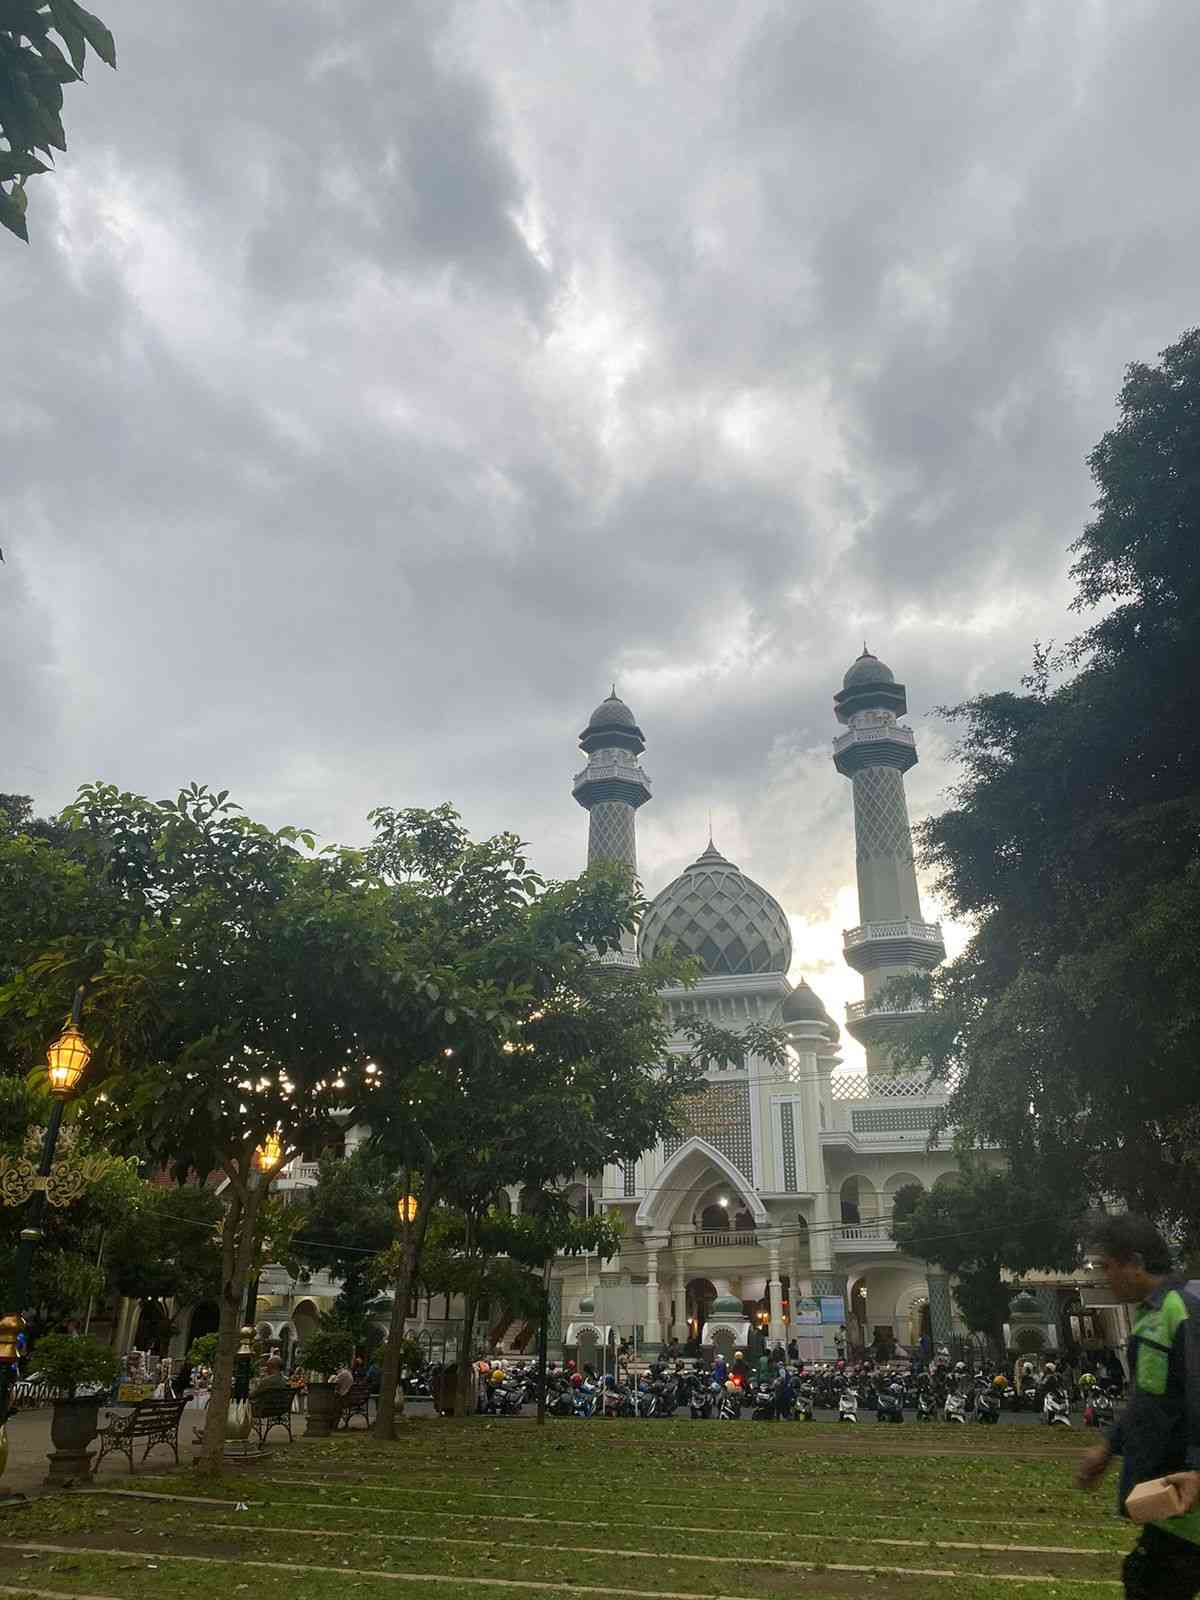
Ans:
{"label": "shorter-looking left minaret, its lower part hidden by trees", "polygon": [[[597,861],[619,861],[637,878],[637,808],[650,800],[650,779],[638,763],[645,747],[634,712],[616,698],[613,685],[613,693],[595,707],[579,734],[587,766],[576,774],[573,794],[589,813],[589,867]],[[627,933],[621,955],[606,960],[635,963],[637,938]]]}

